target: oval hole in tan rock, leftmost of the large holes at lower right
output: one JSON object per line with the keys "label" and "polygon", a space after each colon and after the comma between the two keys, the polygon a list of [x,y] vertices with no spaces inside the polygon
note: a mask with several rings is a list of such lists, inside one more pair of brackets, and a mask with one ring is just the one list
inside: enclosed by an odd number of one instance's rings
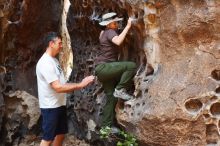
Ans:
{"label": "oval hole in tan rock, leftmost of the large holes at lower right", "polygon": [[202,108],[202,102],[198,99],[190,99],[185,103],[185,107],[189,112],[196,113]]}

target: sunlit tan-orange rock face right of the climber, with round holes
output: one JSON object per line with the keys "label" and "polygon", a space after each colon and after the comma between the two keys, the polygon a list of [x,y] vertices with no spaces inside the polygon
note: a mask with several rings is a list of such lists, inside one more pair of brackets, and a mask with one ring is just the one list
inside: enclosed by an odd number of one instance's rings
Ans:
{"label": "sunlit tan-orange rock face right of the climber, with round holes", "polygon": [[[156,58],[153,53],[149,58],[159,62],[158,70],[152,76],[144,71],[136,75],[139,96],[126,102],[125,109],[119,108],[117,115],[143,145],[220,144],[219,4],[217,0],[152,3],[160,30],[157,36],[149,33],[144,49],[156,51]],[[158,46],[147,45],[151,41]]]}

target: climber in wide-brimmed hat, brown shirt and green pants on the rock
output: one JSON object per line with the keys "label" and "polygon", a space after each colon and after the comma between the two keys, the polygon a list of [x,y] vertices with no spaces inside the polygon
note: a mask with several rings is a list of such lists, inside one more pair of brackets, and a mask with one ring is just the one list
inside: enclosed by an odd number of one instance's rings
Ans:
{"label": "climber in wide-brimmed hat, brown shirt and green pants on the rock", "polygon": [[104,14],[99,23],[105,29],[99,36],[100,50],[96,59],[95,74],[102,83],[104,92],[107,96],[107,102],[103,108],[101,117],[101,127],[115,128],[115,106],[117,98],[123,100],[133,99],[133,96],[127,94],[126,90],[132,85],[132,79],[135,75],[136,64],[131,61],[119,61],[119,46],[125,39],[126,34],[131,28],[132,19],[129,18],[126,27],[118,35],[118,18],[114,12]]}

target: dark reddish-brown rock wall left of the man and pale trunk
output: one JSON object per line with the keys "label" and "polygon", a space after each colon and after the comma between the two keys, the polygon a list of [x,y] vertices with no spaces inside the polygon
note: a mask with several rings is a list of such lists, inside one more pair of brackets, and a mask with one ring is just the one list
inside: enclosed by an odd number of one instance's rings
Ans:
{"label": "dark reddish-brown rock wall left of the man and pale trunk", "polygon": [[0,0],[0,145],[40,134],[35,65],[61,12],[59,0]]}

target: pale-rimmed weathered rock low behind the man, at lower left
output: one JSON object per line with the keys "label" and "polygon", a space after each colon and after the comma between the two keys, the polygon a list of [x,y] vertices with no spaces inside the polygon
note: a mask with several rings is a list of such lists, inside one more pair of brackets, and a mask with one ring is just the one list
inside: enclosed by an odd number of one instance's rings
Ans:
{"label": "pale-rimmed weathered rock low behind the man, at lower left", "polygon": [[[6,96],[7,97],[7,96]],[[25,91],[10,93],[5,99],[5,142],[15,143],[20,136],[28,133],[37,124],[40,109],[36,97]],[[37,132],[37,131],[36,131]]]}

